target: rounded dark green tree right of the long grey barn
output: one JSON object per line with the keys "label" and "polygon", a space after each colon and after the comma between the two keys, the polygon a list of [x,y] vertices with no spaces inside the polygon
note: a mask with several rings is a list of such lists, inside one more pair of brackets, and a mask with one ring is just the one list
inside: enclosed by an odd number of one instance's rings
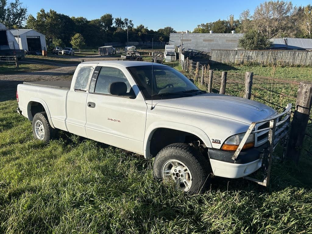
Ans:
{"label": "rounded dark green tree right of the long grey barn", "polygon": [[238,46],[245,50],[266,50],[270,48],[272,42],[262,33],[251,30],[239,39]]}

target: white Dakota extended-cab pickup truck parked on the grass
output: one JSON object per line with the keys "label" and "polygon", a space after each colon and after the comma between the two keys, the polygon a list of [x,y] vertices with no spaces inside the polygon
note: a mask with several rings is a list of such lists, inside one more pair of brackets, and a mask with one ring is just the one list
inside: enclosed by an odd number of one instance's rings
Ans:
{"label": "white Dakota extended-cab pickup truck parked on the grass", "polygon": [[278,114],[206,93],[169,66],[140,61],[83,62],[72,80],[18,85],[17,101],[36,139],[49,141],[61,129],[156,157],[155,177],[191,193],[202,192],[212,173],[241,178],[261,168],[270,134],[285,135],[291,108]]}

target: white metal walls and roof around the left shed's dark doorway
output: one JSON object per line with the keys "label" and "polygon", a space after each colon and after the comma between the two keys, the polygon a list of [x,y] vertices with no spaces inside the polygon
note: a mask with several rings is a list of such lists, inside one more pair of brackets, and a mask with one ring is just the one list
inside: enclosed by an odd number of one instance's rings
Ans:
{"label": "white metal walls and roof around the left shed's dark doorway", "polygon": [[40,38],[41,50],[47,50],[46,36],[33,29],[11,29],[15,40],[19,44],[20,48],[29,51],[27,38]]}

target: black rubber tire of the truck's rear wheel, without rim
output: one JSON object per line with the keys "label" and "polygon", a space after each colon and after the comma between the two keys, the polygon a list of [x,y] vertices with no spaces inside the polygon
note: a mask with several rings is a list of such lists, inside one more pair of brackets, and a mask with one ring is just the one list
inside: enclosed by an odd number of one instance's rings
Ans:
{"label": "black rubber tire of the truck's rear wheel, without rim", "polygon": [[[35,124],[37,120],[39,120],[42,123],[44,129],[43,139],[38,138],[36,135]],[[50,140],[55,138],[56,133],[57,133],[56,129],[52,128],[51,124],[49,123],[46,112],[38,112],[37,114],[35,114],[34,118],[32,119],[32,134],[35,139],[49,142]]]}

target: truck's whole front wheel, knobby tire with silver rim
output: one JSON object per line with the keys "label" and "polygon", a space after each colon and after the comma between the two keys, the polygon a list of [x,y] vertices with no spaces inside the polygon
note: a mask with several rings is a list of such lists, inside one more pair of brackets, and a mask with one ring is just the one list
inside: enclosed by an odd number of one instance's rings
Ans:
{"label": "truck's whole front wheel, knobby tire with silver rim", "polygon": [[209,164],[193,146],[170,144],[156,155],[154,176],[163,181],[173,180],[176,188],[188,193],[202,193],[209,182]]}

